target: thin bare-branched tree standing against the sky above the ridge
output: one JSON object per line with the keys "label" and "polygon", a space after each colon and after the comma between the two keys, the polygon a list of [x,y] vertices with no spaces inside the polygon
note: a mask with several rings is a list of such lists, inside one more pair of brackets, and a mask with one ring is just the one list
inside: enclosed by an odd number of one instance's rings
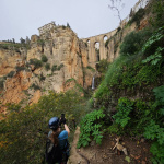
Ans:
{"label": "thin bare-branched tree standing against the sky above the ridge", "polygon": [[120,23],[121,23],[120,11],[122,10],[124,7],[125,3],[122,3],[121,0],[110,0],[110,4],[108,4],[108,8],[117,13]]}

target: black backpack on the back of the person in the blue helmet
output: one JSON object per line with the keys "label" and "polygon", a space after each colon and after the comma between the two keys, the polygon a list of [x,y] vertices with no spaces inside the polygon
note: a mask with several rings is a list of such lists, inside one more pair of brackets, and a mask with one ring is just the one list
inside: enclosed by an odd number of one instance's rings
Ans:
{"label": "black backpack on the back of the person in the blue helmet", "polygon": [[46,142],[46,162],[48,164],[55,164],[62,161],[62,151],[59,148],[59,144],[55,145],[50,139],[47,139]]}

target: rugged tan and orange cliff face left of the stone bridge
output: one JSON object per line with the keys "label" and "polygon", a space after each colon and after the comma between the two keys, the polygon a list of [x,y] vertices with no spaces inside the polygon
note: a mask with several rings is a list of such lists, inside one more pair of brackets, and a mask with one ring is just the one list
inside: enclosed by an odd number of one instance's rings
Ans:
{"label": "rugged tan and orange cliff face left of the stone bridge", "polygon": [[91,86],[93,73],[84,82],[83,71],[87,66],[87,49],[68,27],[56,26],[40,36],[33,35],[26,50],[0,48],[0,58],[1,110],[7,103],[37,103],[51,90],[66,92],[77,84]]}

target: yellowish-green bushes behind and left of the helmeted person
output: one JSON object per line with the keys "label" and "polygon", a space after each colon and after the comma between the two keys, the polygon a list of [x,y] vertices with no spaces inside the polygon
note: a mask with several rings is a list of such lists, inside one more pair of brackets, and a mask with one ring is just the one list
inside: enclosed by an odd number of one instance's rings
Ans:
{"label": "yellowish-green bushes behind and left of the helmeted person", "polygon": [[49,119],[65,113],[73,129],[87,113],[84,106],[85,99],[75,92],[50,92],[25,108],[9,104],[8,118],[0,121],[0,163],[43,163]]}

